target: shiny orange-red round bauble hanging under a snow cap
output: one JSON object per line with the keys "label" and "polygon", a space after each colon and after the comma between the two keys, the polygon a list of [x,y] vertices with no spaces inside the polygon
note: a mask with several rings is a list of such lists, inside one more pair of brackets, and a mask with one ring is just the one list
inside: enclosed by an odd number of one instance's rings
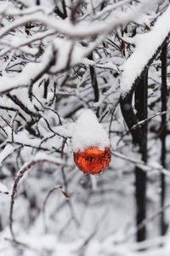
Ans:
{"label": "shiny orange-red round bauble hanging under a snow cap", "polygon": [[85,173],[98,174],[105,170],[111,161],[110,148],[87,148],[74,152],[74,160],[78,169]]}

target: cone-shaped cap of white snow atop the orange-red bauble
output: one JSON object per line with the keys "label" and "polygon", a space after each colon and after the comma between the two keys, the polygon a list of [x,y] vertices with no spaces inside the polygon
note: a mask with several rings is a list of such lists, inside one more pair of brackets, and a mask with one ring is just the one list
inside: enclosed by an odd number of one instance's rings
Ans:
{"label": "cone-shaped cap of white snow atop the orange-red bauble", "polygon": [[92,110],[83,110],[78,117],[72,134],[72,147],[74,152],[89,147],[98,147],[100,150],[109,147],[107,133]]}

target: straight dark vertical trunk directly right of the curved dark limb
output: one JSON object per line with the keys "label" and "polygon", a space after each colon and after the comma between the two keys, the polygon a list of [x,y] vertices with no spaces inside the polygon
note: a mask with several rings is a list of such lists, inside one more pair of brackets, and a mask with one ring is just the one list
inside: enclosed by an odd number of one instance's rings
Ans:
{"label": "straight dark vertical trunk directly right of the curved dark limb", "polygon": [[[144,76],[141,78],[139,85],[135,91],[135,108],[137,110],[137,119],[147,119],[147,99],[148,99],[148,70],[144,72]],[[140,143],[140,152],[142,154],[142,160],[147,161],[147,124],[141,127],[143,131],[143,137]],[[139,167],[135,169],[136,178],[136,205],[137,205],[137,216],[136,224],[140,224],[145,218],[146,212],[146,173]],[[145,227],[139,230],[137,234],[137,241],[143,241],[145,239]]]}

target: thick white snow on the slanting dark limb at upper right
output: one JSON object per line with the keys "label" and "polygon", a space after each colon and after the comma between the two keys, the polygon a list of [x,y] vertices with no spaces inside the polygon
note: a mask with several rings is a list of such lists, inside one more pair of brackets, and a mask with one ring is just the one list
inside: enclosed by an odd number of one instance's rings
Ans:
{"label": "thick white snow on the slanting dark limb at upper right", "polygon": [[[167,34],[170,32],[170,6],[165,13],[156,21],[150,32],[138,34],[135,38],[130,38],[130,43],[135,44],[133,54],[124,62],[121,79],[122,96],[126,96],[132,85],[142,73],[150,58],[156,53],[156,49],[162,44]],[[125,38],[128,41],[128,38]]]}

